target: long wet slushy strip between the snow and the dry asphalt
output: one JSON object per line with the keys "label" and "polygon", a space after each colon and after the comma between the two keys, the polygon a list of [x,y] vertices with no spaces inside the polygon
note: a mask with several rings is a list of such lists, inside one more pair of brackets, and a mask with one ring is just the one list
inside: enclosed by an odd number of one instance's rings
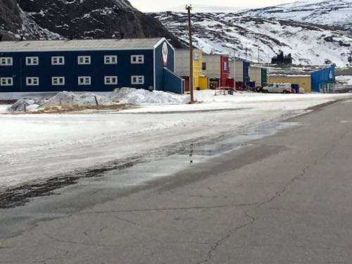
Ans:
{"label": "long wet slushy strip between the snow and the dry asphalt", "polygon": [[144,156],[0,191],[0,238],[13,237],[38,221],[60,218],[123,196],[152,180],[170,177],[210,158],[249,146],[255,139],[297,125],[302,124],[277,122],[242,128],[216,137],[200,137],[154,149]]}

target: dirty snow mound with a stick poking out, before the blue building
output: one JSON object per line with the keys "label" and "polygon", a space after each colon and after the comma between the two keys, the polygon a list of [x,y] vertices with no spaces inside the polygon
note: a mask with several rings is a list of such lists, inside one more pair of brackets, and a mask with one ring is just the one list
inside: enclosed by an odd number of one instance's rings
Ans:
{"label": "dirty snow mound with a stick poking out, before the blue building", "polygon": [[96,106],[95,97],[98,103],[104,106],[111,105],[111,100],[106,96],[99,96],[92,93],[75,94],[74,92],[59,92],[44,103],[44,106]]}

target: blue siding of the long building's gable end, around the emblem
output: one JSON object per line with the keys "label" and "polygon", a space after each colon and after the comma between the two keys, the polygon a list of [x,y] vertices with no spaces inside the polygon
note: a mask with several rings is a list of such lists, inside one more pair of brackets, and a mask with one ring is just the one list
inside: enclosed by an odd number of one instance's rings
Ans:
{"label": "blue siding of the long building's gable end, around the emblem", "polygon": [[[168,44],[168,42],[166,42]],[[168,63],[163,63],[163,44],[162,42],[155,49],[155,74],[156,74],[156,87],[158,91],[170,91],[167,86],[164,85],[164,68],[168,68],[172,72],[175,70],[175,51],[168,44]]]}

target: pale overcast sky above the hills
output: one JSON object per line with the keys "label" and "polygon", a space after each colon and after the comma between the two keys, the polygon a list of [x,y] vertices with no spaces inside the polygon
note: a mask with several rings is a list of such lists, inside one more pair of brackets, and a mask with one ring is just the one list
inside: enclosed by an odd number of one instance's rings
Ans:
{"label": "pale overcast sky above the hills", "polygon": [[[277,4],[285,4],[294,2],[296,0],[252,0],[252,1],[243,1],[243,0],[130,0],[130,3],[139,11],[142,12],[156,12],[156,11],[180,11],[172,10],[177,6],[184,6],[186,4],[194,5],[194,11],[197,11],[196,6],[232,6],[233,8],[256,8],[264,6],[275,6]],[[199,7],[198,11],[204,11],[204,8]],[[221,8],[222,10],[223,8]]]}

